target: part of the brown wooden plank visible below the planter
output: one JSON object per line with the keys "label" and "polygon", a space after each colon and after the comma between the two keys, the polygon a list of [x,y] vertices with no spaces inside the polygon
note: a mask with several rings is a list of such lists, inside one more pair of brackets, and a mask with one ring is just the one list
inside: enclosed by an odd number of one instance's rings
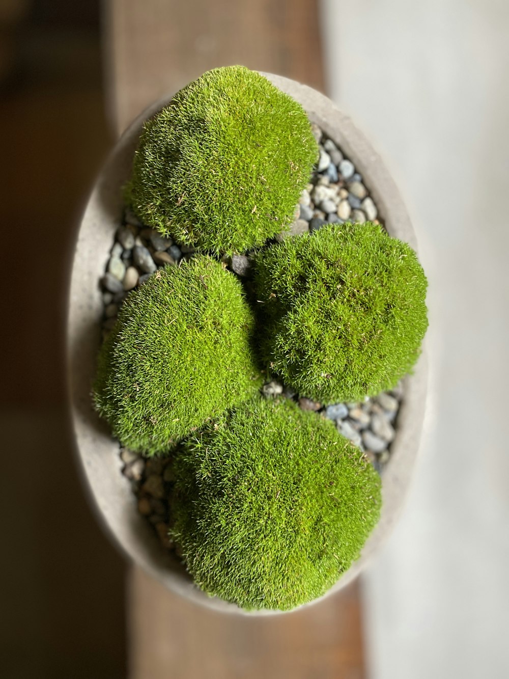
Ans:
{"label": "part of the brown wooden plank visible below the planter", "polygon": [[191,604],[138,568],[128,583],[131,679],[362,679],[358,585],[290,614]]}

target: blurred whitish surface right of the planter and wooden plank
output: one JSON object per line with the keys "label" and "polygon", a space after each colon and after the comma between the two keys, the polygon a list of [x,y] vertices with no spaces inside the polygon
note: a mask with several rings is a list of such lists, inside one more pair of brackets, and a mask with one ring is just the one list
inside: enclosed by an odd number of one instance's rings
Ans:
{"label": "blurred whitish surface right of the planter and wooden plank", "polygon": [[392,169],[430,278],[407,509],[364,578],[373,679],[509,677],[509,2],[322,0],[329,92]]}

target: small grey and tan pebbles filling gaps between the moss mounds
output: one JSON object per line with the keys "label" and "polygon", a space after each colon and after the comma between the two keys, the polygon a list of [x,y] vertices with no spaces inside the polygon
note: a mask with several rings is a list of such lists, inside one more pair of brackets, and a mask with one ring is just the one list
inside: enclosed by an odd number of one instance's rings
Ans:
{"label": "small grey and tan pebbles filling gaps between the moss mounds", "polygon": [[[316,124],[312,128],[320,148],[318,164],[301,194],[290,230],[277,236],[279,241],[314,232],[331,222],[379,223],[377,207],[352,161],[345,158],[341,149],[324,136]],[[143,285],[158,268],[178,265],[192,256],[192,247],[164,238],[126,210],[115,234],[107,270],[100,280],[104,304],[103,339],[115,325],[118,310],[129,291]],[[233,255],[227,265],[240,278],[250,276],[249,255]],[[398,410],[403,399],[401,385],[377,397],[366,397],[360,403],[327,406],[299,397],[276,380],[267,382],[262,391],[267,398],[283,394],[297,401],[301,408],[333,420],[339,432],[362,450],[375,469],[383,474],[390,460],[391,443],[397,435]],[[168,538],[173,481],[168,458],[147,459],[126,448],[120,449],[120,456],[122,471],[136,494],[138,511],[152,524],[163,547],[176,549],[178,553],[178,547]]]}

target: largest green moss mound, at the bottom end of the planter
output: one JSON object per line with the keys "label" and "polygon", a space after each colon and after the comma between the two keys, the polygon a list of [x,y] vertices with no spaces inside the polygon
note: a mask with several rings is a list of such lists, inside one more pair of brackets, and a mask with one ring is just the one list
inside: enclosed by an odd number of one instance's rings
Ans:
{"label": "largest green moss mound, at the bottom end of the planter", "polygon": [[292,401],[221,416],[173,464],[172,537],[197,585],[242,608],[319,597],[379,518],[373,466],[331,421]]}

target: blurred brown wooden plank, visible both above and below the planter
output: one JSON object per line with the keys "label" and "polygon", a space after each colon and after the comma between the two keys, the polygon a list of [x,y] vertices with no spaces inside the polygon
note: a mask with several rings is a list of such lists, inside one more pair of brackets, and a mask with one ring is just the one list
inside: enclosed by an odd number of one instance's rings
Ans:
{"label": "blurred brown wooden plank, visible both above and below the planter", "polygon": [[[119,132],[204,71],[242,64],[324,88],[316,0],[110,0],[110,112]],[[131,679],[362,679],[358,584],[282,617],[218,614],[138,568],[128,582]]]}

